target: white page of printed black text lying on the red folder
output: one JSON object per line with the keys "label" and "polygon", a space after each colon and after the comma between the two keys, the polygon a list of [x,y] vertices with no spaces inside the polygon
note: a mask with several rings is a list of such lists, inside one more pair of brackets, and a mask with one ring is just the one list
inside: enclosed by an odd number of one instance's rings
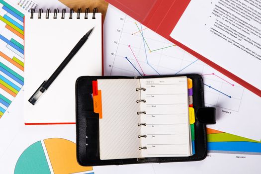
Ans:
{"label": "white page of printed black text lying on the red folder", "polygon": [[261,0],[191,0],[171,37],[261,89]]}

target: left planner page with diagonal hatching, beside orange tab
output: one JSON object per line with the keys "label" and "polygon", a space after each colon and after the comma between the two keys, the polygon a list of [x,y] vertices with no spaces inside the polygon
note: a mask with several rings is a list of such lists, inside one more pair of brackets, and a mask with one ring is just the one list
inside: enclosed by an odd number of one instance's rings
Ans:
{"label": "left planner page with diagonal hatching, beside orange tab", "polygon": [[137,115],[138,79],[97,80],[101,90],[102,119],[99,119],[100,159],[138,158],[140,128]]}

